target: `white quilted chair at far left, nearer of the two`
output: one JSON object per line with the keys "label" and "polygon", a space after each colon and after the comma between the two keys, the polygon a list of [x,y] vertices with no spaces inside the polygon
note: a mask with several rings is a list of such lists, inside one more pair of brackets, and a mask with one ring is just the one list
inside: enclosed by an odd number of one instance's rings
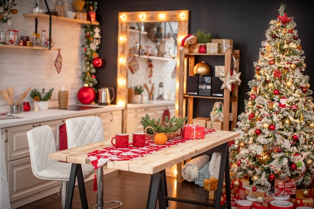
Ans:
{"label": "white quilted chair at far left, nearer of the two", "polygon": [[[56,142],[48,125],[36,127],[27,132],[31,166],[37,178],[62,181],[62,208],[65,206],[66,182],[69,181],[71,163],[49,159],[49,153],[56,152]],[[83,178],[88,178],[94,169],[83,170]]]}

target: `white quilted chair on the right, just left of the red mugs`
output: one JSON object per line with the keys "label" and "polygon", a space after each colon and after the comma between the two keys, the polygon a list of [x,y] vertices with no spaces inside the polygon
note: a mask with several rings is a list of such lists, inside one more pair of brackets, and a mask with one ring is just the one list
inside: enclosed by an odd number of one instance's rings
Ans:
{"label": "white quilted chair on the right, just left of the red mugs", "polygon": [[[77,146],[82,146],[90,143],[95,143],[103,141],[105,139],[105,134],[103,130],[103,124],[101,118],[98,116],[87,116],[87,117],[75,117],[69,118],[65,122],[67,130],[67,142],[68,148],[73,148]],[[94,167],[91,164],[82,164],[82,170],[90,170]],[[102,208],[103,203],[119,203],[116,207],[111,207],[108,209],[119,208],[122,202],[119,200],[113,201],[103,201],[103,168],[97,169],[97,206]],[[101,177],[100,177],[101,176]]]}

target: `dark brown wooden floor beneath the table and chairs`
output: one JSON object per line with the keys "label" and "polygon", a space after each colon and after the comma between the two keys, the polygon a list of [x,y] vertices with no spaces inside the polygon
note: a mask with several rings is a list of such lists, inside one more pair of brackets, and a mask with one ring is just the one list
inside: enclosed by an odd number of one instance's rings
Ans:
{"label": "dark brown wooden floor beneath the table and chairs", "polygon": [[[150,175],[126,171],[115,171],[104,176],[104,201],[120,200],[124,209],[146,208]],[[205,199],[205,190],[193,182],[177,183],[175,177],[167,177],[168,196],[208,202]],[[96,205],[96,192],[92,190],[93,181],[85,183],[88,207]],[[116,204],[115,204],[116,205]],[[115,206],[105,204],[105,208]],[[60,209],[61,195],[51,195],[30,204],[19,207],[21,209]],[[82,208],[78,187],[75,187],[72,208]],[[159,208],[158,206],[156,208]],[[206,206],[169,201],[169,209],[203,209]]]}

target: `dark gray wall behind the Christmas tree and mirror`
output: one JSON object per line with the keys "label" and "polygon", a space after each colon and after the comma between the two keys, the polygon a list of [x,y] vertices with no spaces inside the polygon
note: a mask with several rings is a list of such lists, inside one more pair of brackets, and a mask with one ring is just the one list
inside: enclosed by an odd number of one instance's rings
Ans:
{"label": "dark gray wall behind the Christmas tree and mirror", "polygon": [[[239,88],[239,110],[244,111],[244,99],[250,91],[247,86],[253,79],[253,62],[258,59],[261,42],[265,40],[268,23],[275,20],[281,3],[286,5],[285,13],[294,17],[296,30],[301,39],[307,65],[304,74],[310,76],[311,88],[314,87],[314,30],[310,1],[212,1],[212,0],[117,0],[98,1],[97,20],[101,27],[101,46],[99,54],[105,65],[97,68],[98,87],[113,86],[116,89],[116,60],[118,12],[189,10],[190,33],[199,29],[211,32],[214,38],[233,39],[233,49],[240,50],[240,72],[242,80]],[[214,70],[214,63],[208,63]],[[209,101],[195,101],[195,117],[209,116]]]}

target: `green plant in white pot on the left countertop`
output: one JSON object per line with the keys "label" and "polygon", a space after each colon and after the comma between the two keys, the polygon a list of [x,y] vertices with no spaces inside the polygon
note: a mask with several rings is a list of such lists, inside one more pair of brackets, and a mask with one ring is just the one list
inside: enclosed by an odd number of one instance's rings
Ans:
{"label": "green plant in white pot on the left countertop", "polygon": [[48,110],[48,100],[51,99],[53,90],[54,88],[45,93],[45,88],[43,88],[42,92],[32,89],[30,96],[34,99],[34,110]]}

